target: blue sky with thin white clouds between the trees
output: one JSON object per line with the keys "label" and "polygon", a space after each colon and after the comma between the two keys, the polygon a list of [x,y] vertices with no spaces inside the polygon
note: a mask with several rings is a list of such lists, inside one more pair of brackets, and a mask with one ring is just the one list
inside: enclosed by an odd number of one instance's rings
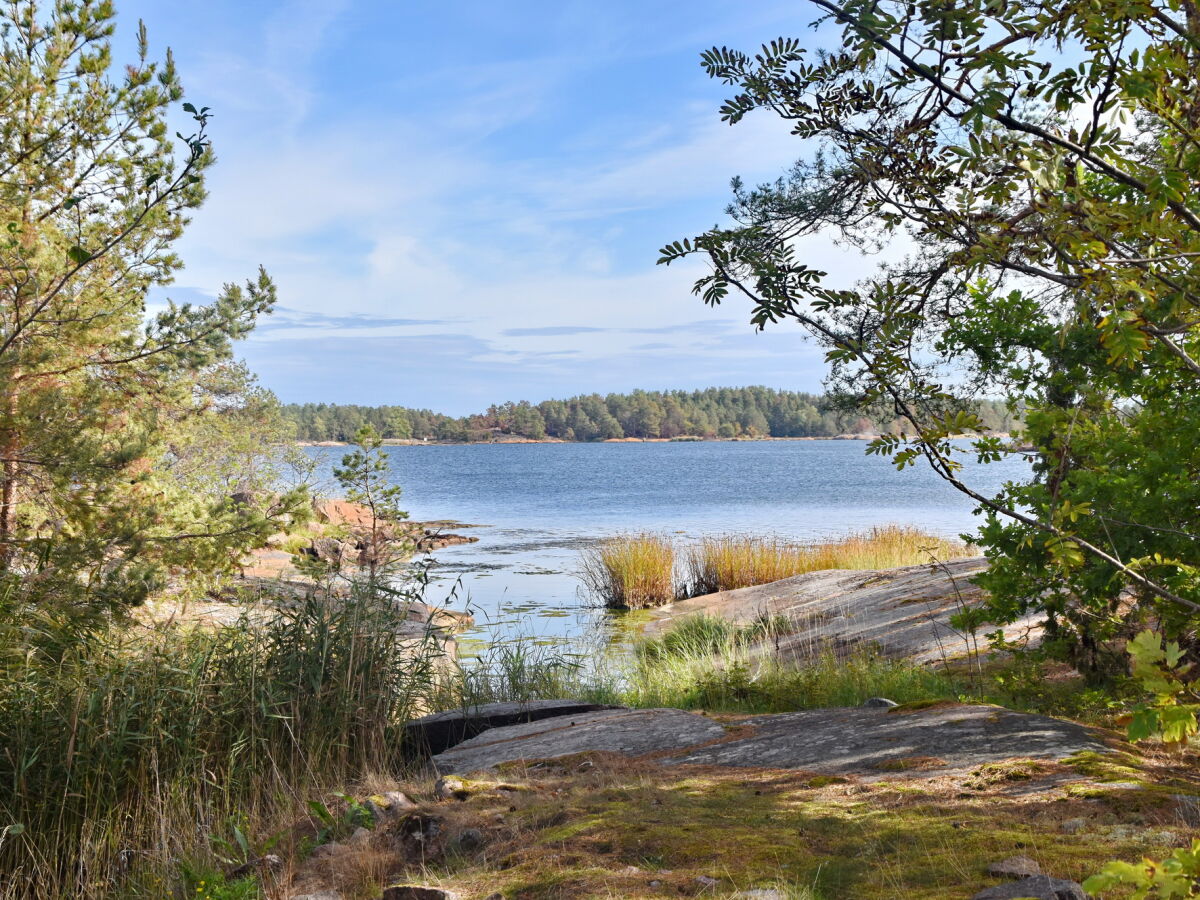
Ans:
{"label": "blue sky with thin white clouds between the trees", "polygon": [[[581,392],[818,391],[798,326],[690,293],[658,250],[722,220],[728,181],[805,152],[731,127],[700,53],[815,44],[798,2],[122,0],[214,109],[210,198],[163,292],[204,302],[263,265],[278,308],[239,346],[286,402],[478,412]],[[186,126],[186,119],[180,126]],[[864,260],[816,239],[812,264]],[[156,298],[158,300],[162,296]]]}

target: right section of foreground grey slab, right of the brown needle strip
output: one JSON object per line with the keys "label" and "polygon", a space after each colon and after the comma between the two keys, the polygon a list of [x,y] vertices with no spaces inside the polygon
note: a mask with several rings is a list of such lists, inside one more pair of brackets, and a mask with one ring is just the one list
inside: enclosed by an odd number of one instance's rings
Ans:
{"label": "right section of foreground grey slab, right of the brown needle strip", "polygon": [[[967,770],[1013,757],[1061,760],[1106,752],[1087,728],[991,706],[948,703],[925,709],[810,709],[749,719],[750,734],[664,762],[762,766],[887,778],[887,763],[936,757],[944,766],[906,769],[906,778]],[[881,766],[882,764],[882,766]],[[881,770],[882,769],[882,770]]]}

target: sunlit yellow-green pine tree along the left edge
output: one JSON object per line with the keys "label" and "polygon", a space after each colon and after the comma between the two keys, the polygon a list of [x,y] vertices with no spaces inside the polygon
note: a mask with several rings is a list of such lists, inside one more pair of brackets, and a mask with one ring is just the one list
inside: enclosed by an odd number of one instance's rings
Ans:
{"label": "sunlit yellow-green pine tree along the left edge", "polygon": [[302,500],[198,491],[174,454],[208,439],[187,430],[220,416],[214,366],[275,286],[259,271],[206,306],[149,310],[204,199],[211,113],[184,103],[191,133],[169,126],[182,88],[144,28],[112,71],[114,14],[0,10],[0,590],[71,616],[228,571]]}

